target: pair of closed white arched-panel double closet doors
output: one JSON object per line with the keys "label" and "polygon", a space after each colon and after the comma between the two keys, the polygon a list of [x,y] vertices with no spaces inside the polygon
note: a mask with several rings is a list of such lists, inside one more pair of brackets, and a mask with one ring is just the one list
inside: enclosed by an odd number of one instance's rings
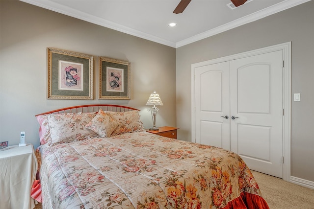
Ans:
{"label": "pair of closed white arched-panel double closet doors", "polygon": [[282,50],[195,68],[195,142],[282,178]]}

